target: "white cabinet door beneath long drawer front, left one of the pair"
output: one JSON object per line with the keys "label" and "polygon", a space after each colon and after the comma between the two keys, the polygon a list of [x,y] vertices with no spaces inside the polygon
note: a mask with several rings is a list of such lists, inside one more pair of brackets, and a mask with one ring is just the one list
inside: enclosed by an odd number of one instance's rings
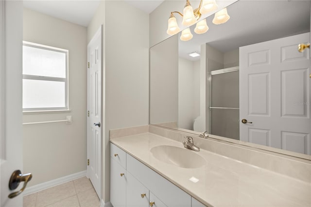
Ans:
{"label": "white cabinet door beneath long drawer front, left one of the pair", "polygon": [[126,207],[148,207],[149,190],[131,173],[126,173]]}

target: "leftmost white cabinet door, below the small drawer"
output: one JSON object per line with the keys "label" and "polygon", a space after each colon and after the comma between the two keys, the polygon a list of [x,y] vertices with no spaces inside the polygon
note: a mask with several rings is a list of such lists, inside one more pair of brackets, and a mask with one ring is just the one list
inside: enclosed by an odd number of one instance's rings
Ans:
{"label": "leftmost white cabinet door, below the small drawer", "polygon": [[110,202],[114,207],[125,207],[126,171],[110,158]]}

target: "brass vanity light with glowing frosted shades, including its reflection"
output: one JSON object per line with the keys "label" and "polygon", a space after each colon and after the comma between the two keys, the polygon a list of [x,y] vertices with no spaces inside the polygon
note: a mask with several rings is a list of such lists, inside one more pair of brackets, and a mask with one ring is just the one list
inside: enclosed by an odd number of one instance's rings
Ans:
{"label": "brass vanity light with glowing frosted shades, including its reflection", "polygon": [[[181,14],[180,12],[171,12],[171,16],[169,17],[169,21],[168,21],[168,29],[166,33],[168,35],[175,35],[180,32],[180,28],[178,27],[177,20],[176,20],[176,17],[174,16],[174,13],[177,13],[183,17],[182,24],[184,26],[191,26],[197,20],[199,20],[202,14],[206,14],[208,12],[214,11],[217,8],[218,8],[218,5],[216,4],[216,0],[201,0],[199,7],[193,10],[190,4],[190,0],[186,0],[186,5],[184,7],[183,14]],[[222,23],[225,23],[229,18],[230,17],[227,13],[227,9],[225,8],[215,14],[215,17],[214,17],[215,21],[213,20],[213,23],[222,24]],[[184,34],[181,35],[180,39],[183,41],[188,41],[192,38],[192,34],[190,30],[188,31],[188,28],[185,30],[187,31],[183,32]],[[203,19],[197,22],[194,32],[196,34],[203,34],[203,33],[206,33],[207,30],[208,30],[208,26],[206,23],[206,19]]]}

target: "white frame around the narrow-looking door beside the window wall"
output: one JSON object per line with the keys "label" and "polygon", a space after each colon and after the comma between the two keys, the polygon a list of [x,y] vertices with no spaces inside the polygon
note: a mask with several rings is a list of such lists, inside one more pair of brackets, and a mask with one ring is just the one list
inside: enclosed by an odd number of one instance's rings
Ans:
{"label": "white frame around the narrow-looking door beside the window wall", "polygon": [[[101,156],[100,156],[100,180],[101,180],[101,188],[100,188],[100,193],[99,193],[99,198],[100,200],[102,199],[102,192],[103,192],[103,134],[105,133],[105,122],[104,122],[104,71],[103,71],[103,28],[104,26],[101,25],[100,28],[96,31],[96,33],[93,35],[92,39],[89,41],[89,43],[87,44],[87,63],[89,63],[89,53],[88,53],[88,45],[91,44],[94,39],[96,38],[96,36],[101,35],[101,56],[100,56],[100,60],[101,60],[101,118],[100,118],[100,122],[101,122]],[[86,177],[89,178],[89,167],[87,165],[87,159],[90,157],[90,143],[89,143],[89,137],[90,137],[90,131],[89,131],[89,127],[88,125],[90,124],[89,122],[89,106],[90,106],[90,100],[89,100],[89,69],[88,69],[88,64],[86,64],[86,70],[87,70],[87,108],[86,108],[86,140],[87,140],[87,147],[86,147],[86,152],[87,152],[87,158],[86,158]]]}

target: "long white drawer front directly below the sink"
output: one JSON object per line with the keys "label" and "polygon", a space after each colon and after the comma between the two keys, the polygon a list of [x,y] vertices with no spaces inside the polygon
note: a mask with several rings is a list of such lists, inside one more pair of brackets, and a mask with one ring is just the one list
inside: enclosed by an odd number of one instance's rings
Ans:
{"label": "long white drawer front directly below the sink", "polygon": [[191,207],[191,196],[188,193],[128,154],[126,155],[126,167],[129,173],[152,191],[166,206]]}

